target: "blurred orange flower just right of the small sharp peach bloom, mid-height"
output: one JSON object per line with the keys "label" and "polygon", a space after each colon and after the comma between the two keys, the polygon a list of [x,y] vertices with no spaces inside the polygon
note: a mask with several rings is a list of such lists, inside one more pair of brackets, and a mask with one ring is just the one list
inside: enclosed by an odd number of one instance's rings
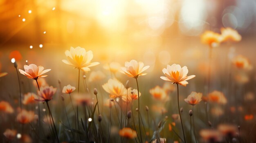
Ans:
{"label": "blurred orange flower just right of the small sharp peach bloom, mid-height", "polygon": [[226,104],[227,99],[225,95],[217,90],[214,90],[213,92],[209,93],[208,95],[209,101],[213,103],[219,103],[219,104]]}

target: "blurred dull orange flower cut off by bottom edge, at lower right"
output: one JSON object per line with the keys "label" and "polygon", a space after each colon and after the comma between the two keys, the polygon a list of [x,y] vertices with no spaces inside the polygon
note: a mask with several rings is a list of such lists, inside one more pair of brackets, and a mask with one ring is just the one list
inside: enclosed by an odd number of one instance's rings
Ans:
{"label": "blurred dull orange flower cut off by bottom edge, at lower right", "polygon": [[218,130],[203,129],[199,132],[203,141],[207,143],[218,143],[222,141],[222,134]]}

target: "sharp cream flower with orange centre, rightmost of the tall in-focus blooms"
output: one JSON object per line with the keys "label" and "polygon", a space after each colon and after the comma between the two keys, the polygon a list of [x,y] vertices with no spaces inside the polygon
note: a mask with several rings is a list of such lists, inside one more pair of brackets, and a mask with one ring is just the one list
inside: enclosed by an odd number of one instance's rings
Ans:
{"label": "sharp cream flower with orange centre, rightmost of the tall in-focus blooms", "polygon": [[163,73],[166,77],[160,77],[165,81],[171,81],[173,84],[180,84],[182,86],[186,86],[189,84],[187,80],[192,79],[195,75],[187,76],[189,70],[186,66],[181,66],[179,64],[167,65],[167,68],[163,68]]}

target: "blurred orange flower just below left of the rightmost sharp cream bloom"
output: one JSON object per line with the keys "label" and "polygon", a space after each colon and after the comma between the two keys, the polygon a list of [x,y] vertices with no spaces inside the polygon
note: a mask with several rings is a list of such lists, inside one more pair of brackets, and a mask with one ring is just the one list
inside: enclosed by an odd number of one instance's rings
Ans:
{"label": "blurred orange flower just below left of the rightmost sharp cream bloom", "polygon": [[168,96],[165,90],[159,86],[155,86],[155,88],[151,88],[149,92],[154,99],[161,100],[161,101],[166,101],[166,99],[168,99]]}

